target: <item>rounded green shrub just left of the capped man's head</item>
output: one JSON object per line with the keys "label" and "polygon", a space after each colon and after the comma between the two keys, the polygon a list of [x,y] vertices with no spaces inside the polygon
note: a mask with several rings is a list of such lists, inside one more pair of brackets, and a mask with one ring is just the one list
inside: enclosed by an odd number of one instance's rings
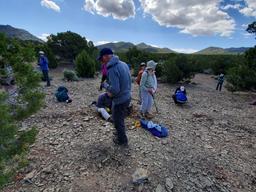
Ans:
{"label": "rounded green shrub just left of the capped man's head", "polygon": [[93,77],[95,73],[95,61],[83,50],[75,60],[75,70],[79,77]]}

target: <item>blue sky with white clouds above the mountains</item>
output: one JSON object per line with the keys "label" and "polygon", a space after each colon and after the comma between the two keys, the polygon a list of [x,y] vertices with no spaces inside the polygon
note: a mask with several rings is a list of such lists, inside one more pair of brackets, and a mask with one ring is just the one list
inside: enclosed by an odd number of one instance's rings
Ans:
{"label": "blue sky with white clouds above the mountains", "polygon": [[256,0],[0,0],[0,24],[44,38],[67,30],[94,42],[145,42],[179,52],[251,47]]}

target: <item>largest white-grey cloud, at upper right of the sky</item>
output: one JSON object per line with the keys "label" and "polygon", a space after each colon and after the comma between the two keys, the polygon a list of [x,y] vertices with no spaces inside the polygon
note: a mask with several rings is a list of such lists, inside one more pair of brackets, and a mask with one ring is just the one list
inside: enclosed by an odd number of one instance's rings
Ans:
{"label": "largest white-grey cloud, at upper right of the sky", "polygon": [[230,36],[235,21],[219,7],[220,0],[140,0],[144,13],[161,26],[177,27],[182,33]]}

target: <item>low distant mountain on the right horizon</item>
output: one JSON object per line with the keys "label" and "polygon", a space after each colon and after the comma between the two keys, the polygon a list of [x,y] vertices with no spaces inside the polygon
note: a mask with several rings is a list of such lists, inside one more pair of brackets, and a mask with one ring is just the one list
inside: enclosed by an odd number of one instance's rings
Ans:
{"label": "low distant mountain on the right horizon", "polygon": [[239,48],[220,48],[220,47],[208,47],[206,49],[202,49],[194,54],[202,54],[202,55],[220,55],[220,54],[242,54],[247,51],[250,47],[239,47]]}

